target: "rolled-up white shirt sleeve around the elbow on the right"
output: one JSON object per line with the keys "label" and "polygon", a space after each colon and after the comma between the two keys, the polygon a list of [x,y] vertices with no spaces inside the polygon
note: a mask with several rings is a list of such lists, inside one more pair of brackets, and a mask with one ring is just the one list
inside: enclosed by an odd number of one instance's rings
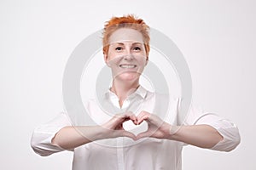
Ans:
{"label": "rolled-up white shirt sleeve around the elbow on the right", "polygon": [[215,144],[211,150],[230,151],[240,144],[241,137],[236,124],[215,113],[191,107],[185,123],[189,125],[209,125],[214,127],[223,136],[224,139]]}

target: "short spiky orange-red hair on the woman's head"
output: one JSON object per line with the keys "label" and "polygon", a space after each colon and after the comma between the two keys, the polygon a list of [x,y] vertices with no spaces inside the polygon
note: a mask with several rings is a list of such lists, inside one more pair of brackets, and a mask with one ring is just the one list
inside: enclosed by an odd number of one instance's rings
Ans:
{"label": "short spiky orange-red hair on the woman's head", "polygon": [[142,19],[137,19],[133,14],[124,15],[122,17],[112,17],[104,26],[103,31],[103,54],[108,54],[108,38],[114,31],[119,28],[131,28],[140,31],[143,34],[144,46],[148,58],[149,53],[149,26]]}

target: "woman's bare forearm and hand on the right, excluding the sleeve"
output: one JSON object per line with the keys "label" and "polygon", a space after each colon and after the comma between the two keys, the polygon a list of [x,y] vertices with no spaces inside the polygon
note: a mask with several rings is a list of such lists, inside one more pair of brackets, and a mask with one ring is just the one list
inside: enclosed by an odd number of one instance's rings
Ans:
{"label": "woman's bare forearm and hand on the right, excluding the sleeve", "polygon": [[[176,127],[163,122],[158,116],[146,111],[142,111],[138,116],[138,123],[140,124],[143,121],[148,122],[148,131],[138,134],[137,139],[145,137],[171,139],[209,149],[224,140],[224,136],[215,127],[207,124]],[[237,142],[233,141],[233,143],[236,147]]]}

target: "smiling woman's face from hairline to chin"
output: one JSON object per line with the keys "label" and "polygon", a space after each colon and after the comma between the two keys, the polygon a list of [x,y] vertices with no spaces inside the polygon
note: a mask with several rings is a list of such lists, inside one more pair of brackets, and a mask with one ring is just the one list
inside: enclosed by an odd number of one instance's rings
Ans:
{"label": "smiling woman's face from hairline to chin", "polygon": [[120,28],[109,37],[105,62],[112,70],[113,79],[137,80],[147,64],[146,50],[141,32]]}

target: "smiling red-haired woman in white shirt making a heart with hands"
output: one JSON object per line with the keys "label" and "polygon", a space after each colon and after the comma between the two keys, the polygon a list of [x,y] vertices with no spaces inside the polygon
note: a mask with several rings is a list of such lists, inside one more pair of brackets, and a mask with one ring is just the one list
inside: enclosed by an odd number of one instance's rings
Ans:
{"label": "smiling red-haired woman in white shirt making a heart with hands", "polygon": [[[103,99],[104,105],[119,109],[132,108],[133,105],[139,107],[117,115],[113,112],[111,117],[106,116],[95,101],[89,102],[90,116],[102,126],[74,127],[67,114],[61,113],[53,121],[35,129],[33,150],[41,156],[73,150],[74,170],[177,170],[181,169],[184,144],[212,150],[235,149],[240,143],[240,135],[232,122],[191,108],[183,126],[177,127],[160,117],[160,107],[152,109],[155,99],[164,102],[165,98],[139,84],[148,63],[149,39],[148,26],[133,15],[113,17],[103,32],[104,60],[113,76],[112,87]],[[171,111],[177,112],[179,100],[174,100],[172,105]],[[148,128],[135,135],[125,130],[127,122],[130,122],[129,126],[131,122],[134,126],[147,122]]]}

